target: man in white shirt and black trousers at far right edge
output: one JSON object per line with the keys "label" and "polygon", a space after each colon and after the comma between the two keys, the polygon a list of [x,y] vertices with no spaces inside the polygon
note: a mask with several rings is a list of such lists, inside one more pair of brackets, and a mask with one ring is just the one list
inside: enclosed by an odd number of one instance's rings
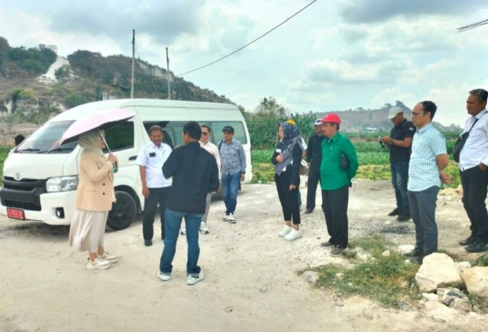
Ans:
{"label": "man in white shirt and black trousers at far right edge", "polygon": [[471,235],[460,241],[470,253],[488,250],[488,212],[485,204],[488,186],[488,92],[484,89],[469,91],[466,120],[462,135],[468,138],[459,154],[459,171],[463,187],[464,210],[471,222]]}

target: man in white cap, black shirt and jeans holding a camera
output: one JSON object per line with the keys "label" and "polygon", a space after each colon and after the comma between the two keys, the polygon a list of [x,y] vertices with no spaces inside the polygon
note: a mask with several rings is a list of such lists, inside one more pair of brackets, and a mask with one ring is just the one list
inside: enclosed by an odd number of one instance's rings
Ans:
{"label": "man in white cap, black shirt and jeans holding a camera", "polygon": [[388,119],[393,123],[393,128],[390,136],[382,137],[381,142],[390,150],[391,182],[397,199],[397,207],[388,216],[397,216],[397,221],[408,221],[411,215],[406,184],[409,182],[409,161],[415,126],[404,118],[403,109],[398,106],[390,109]]}

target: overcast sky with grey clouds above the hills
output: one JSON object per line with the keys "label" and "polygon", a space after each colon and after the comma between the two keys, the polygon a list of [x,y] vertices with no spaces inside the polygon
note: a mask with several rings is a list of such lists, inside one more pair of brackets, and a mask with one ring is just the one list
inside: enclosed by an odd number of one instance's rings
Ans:
{"label": "overcast sky with grey clouds above the hills", "polygon": [[[136,56],[181,74],[273,28],[312,0],[0,0],[11,46],[56,45]],[[252,110],[273,96],[291,111],[434,101],[436,119],[464,124],[466,97],[488,89],[486,0],[318,0],[234,56],[184,79]],[[136,96],[137,97],[137,96]]]}

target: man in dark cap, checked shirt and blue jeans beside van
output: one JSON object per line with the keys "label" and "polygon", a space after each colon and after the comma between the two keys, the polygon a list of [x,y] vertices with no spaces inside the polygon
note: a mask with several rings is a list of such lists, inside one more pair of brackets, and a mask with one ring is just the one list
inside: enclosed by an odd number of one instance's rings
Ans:
{"label": "man in dark cap, checked shirt and blue jeans beside van", "polygon": [[234,128],[222,129],[224,140],[219,143],[220,172],[222,173],[222,197],[225,203],[224,221],[236,223],[234,212],[237,205],[237,191],[245,179],[245,152],[241,142],[234,139]]}

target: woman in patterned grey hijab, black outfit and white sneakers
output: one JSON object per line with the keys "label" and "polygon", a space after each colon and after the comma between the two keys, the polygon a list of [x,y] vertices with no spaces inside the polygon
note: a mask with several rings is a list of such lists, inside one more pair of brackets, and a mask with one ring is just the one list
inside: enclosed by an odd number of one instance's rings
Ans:
{"label": "woman in patterned grey hijab, black outfit and white sneakers", "polygon": [[284,228],[278,235],[287,241],[293,241],[303,235],[298,207],[298,187],[300,187],[298,171],[303,153],[300,145],[302,138],[298,128],[287,122],[280,124],[278,138],[280,141],[271,158],[271,162],[275,165],[275,184],[284,217]]}

